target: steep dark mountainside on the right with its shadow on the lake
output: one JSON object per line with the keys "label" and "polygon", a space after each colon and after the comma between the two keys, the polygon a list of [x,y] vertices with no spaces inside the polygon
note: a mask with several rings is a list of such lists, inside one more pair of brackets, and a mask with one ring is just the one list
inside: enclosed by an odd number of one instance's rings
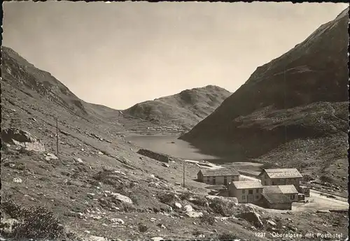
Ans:
{"label": "steep dark mountainside on the right with its shadow on the lake", "polygon": [[[348,10],[258,67],[181,139],[231,161],[293,166],[333,182],[346,177]],[[332,166],[335,160],[340,167]]]}

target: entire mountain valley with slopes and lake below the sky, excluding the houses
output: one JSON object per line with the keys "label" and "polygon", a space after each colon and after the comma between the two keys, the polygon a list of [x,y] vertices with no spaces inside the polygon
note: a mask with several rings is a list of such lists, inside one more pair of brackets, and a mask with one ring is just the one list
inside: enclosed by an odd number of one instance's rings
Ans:
{"label": "entire mountain valley with slopes and lake below the sky, excluding the houses", "polygon": [[[208,85],[127,110],[81,100],[2,46],[1,240],[344,240],[348,10],[233,94]],[[239,203],[198,182],[221,168],[255,182],[297,168],[310,196]]]}

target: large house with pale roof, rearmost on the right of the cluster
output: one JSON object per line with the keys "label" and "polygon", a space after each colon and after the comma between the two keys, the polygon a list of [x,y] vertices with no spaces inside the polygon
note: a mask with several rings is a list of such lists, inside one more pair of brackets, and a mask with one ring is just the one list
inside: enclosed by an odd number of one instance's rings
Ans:
{"label": "large house with pale roof, rearmost on the right of the cluster", "polygon": [[302,179],[297,168],[264,169],[259,177],[264,186],[294,185],[296,189]]}

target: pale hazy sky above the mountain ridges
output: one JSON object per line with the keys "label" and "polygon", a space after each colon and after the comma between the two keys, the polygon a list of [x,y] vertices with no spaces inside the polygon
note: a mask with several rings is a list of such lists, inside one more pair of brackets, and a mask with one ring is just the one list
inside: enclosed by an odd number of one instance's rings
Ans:
{"label": "pale hazy sky above the mountain ridges", "polygon": [[84,101],[125,109],[205,85],[235,92],[347,6],[12,1],[3,45]]}

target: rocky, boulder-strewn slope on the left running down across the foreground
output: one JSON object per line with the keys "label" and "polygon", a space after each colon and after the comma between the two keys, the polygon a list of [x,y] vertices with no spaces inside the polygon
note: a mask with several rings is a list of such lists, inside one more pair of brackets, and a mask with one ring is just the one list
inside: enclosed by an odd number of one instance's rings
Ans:
{"label": "rocky, boulder-strewn slope on the left running down across the foreground", "polygon": [[115,135],[118,110],[81,101],[9,48],[1,54],[1,240],[254,240],[254,231],[274,240],[272,231],[332,224],[346,233],[342,213],[272,215],[207,196],[194,163],[180,187],[182,160],[138,154]]}

